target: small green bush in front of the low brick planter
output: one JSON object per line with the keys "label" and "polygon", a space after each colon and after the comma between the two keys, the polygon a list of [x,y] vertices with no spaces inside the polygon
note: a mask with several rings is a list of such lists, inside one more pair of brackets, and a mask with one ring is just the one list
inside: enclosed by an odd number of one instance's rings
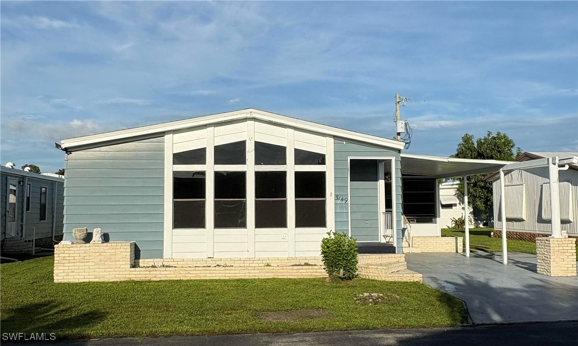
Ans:
{"label": "small green bush in front of the low brick planter", "polygon": [[351,280],[357,276],[357,241],[339,232],[321,240],[321,258],[329,278]]}

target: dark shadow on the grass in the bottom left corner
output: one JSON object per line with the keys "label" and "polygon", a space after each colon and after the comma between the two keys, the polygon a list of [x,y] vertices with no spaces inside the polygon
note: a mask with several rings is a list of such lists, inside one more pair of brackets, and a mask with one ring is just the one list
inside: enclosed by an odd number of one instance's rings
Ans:
{"label": "dark shadow on the grass in the bottom left corner", "polygon": [[[50,333],[55,337],[76,337],[62,335],[71,331],[81,337],[82,330],[90,329],[95,323],[106,318],[103,311],[80,312],[75,307],[62,307],[54,301],[24,305],[18,308],[4,308],[2,311],[2,333]],[[23,341],[23,340],[21,340]]]}

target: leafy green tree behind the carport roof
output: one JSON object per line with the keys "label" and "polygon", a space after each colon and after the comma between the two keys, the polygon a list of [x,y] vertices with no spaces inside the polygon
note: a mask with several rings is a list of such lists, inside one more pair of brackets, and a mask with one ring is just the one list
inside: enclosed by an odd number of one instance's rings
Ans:
{"label": "leafy green tree behind the carport roof", "polygon": [[[486,137],[478,138],[466,133],[462,142],[451,157],[461,159],[494,159],[499,161],[513,161],[522,153],[516,143],[506,133],[488,131]],[[476,174],[468,177],[468,200],[480,212],[481,219],[487,221],[494,217],[494,196],[492,182],[484,181],[488,174]],[[460,180],[458,191],[464,194],[464,181]]]}

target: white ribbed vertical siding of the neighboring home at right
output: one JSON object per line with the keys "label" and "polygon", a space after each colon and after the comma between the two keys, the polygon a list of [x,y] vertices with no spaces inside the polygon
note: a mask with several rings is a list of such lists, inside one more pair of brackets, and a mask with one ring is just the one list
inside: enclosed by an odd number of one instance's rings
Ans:
{"label": "white ribbed vertical siding of the neighboring home at right", "polygon": [[[542,218],[542,184],[549,183],[549,172],[547,167],[531,168],[524,170],[513,170],[505,173],[506,185],[524,184],[526,195],[526,212],[524,221],[506,222],[506,230],[518,230],[521,232],[546,232],[551,233],[550,221]],[[562,230],[571,235],[578,234],[578,171],[561,170],[559,174],[560,181],[570,181],[572,185],[572,209],[573,222],[562,222]],[[495,228],[502,228],[501,213],[501,191],[500,181],[493,182],[494,187],[494,215]],[[546,198],[550,198],[546,196]],[[506,201],[506,203],[508,203]]]}

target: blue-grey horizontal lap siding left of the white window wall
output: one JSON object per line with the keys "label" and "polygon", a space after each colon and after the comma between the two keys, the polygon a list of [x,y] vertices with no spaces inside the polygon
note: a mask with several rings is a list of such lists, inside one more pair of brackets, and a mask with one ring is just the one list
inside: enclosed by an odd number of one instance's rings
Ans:
{"label": "blue-grey horizontal lap siding left of the white window wall", "polygon": [[106,240],[136,241],[138,258],[162,258],[164,137],[72,152],[64,195],[65,240],[99,227]]}

